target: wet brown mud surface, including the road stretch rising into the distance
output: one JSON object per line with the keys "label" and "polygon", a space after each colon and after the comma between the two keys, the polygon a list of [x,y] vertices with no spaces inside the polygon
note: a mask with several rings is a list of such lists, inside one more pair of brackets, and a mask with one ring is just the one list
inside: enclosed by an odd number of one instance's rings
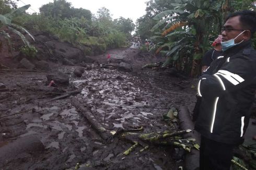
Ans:
{"label": "wet brown mud surface, including the road stretch rising into the distance", "polygon": [[[107,64],[107,54],[112,65]],[[169,130],[162,115],[180,105],[191,111],[196,81],[173,76],[168,70],[141,69],[161,58],[137,49],[112,50],[95,59],[98,62],[86,65],[80,78],[73,74],[76,66],[0,71],[0,82],[9,89],[0,92],[0,146],[31,135],[44,145],[43,150],[14,154],[1,168],[74,169],[79,163],[91,169],[177,169],[184,164],[181,156],[173,154],[177,149],[171,147],[150,146],[144,152],[138,147],[123,155],[132,143],[117,137],[102,139],[86,116],[93,116],[108,131],[140,127],[143,132]],[[46,75],[57,71],[68,75],[69,85],[47,87]],[[52,100],[74,90],[81,92]],[[84,110],[78,110],[74,102]]]}

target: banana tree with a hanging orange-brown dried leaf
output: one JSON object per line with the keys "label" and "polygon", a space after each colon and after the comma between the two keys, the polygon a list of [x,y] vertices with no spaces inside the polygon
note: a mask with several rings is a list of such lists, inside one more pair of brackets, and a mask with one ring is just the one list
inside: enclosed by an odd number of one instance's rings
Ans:
{"label": "banana tree with a hanging orange-brown dried leaf", "polygon": [[[219,20],[219,2],[210,3],[209,0],[176,0],[172,9],[163,11],[153,19],[159,22],[152,28],[163,38],[178,36],[178,41],[172,43],[167,53],[166,65],[171,60],[178,59],[187,54],[190,58],[191,76],[199,74],[199,62],[206,51],[208,37],[212,34],[213,23]],[[220,3],[221,4],[221,3]],[[216,25],[220,23],[217,22]],[[217,26],[217,28],[220,28]],[[180,30],[182,30],[180,32]],[[193,36],[192,36],[193,35]],[[189,52],[189,53],[188,53]],[[193,60],[193,61],[192,61]],[[196,71],[197,70],[197,71]]]}

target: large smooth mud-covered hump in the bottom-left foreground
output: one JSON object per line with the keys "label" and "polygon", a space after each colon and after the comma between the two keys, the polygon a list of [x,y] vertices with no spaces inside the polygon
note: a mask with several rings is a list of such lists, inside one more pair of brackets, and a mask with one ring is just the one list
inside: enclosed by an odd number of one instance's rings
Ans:
{"label": "large smooth mud-covered hump in the bottom-left foreground", "polygon": [[44,150],[44,145],[35,135],[19,138],[0,148],[0,167],[17,159],[20,154],[35,153]]}

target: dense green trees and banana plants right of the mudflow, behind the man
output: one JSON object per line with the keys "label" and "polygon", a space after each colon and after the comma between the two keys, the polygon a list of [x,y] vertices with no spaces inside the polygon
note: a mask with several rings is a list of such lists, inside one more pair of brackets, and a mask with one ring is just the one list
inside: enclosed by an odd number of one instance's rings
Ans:
{"label": "dense green trees and banana plants right of the mudflow, behind the man", "polygon": [[167,56],[164,66],[172,64],[196,76],[201,58],[221,33],[226,16],[255,10],[255,5],[253,0],[150,0],[146,15],[136,22],[136,31],[155,42],[156,53]]}

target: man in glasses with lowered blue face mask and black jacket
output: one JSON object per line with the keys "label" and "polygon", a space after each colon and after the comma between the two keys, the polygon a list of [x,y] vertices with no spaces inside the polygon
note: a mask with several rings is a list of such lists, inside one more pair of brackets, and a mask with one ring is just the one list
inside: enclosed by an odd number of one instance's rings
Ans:
{"label": "man in glasses with lowered blue face mask and black jacket", "polygon": [[223,56],[200,77],[195,130],[201,133],[201,170],[229,170],[232,150],[243,142],[256,87],[256,52],[251,47],[255,30],[254,11],[231,14],[222,32]]}

